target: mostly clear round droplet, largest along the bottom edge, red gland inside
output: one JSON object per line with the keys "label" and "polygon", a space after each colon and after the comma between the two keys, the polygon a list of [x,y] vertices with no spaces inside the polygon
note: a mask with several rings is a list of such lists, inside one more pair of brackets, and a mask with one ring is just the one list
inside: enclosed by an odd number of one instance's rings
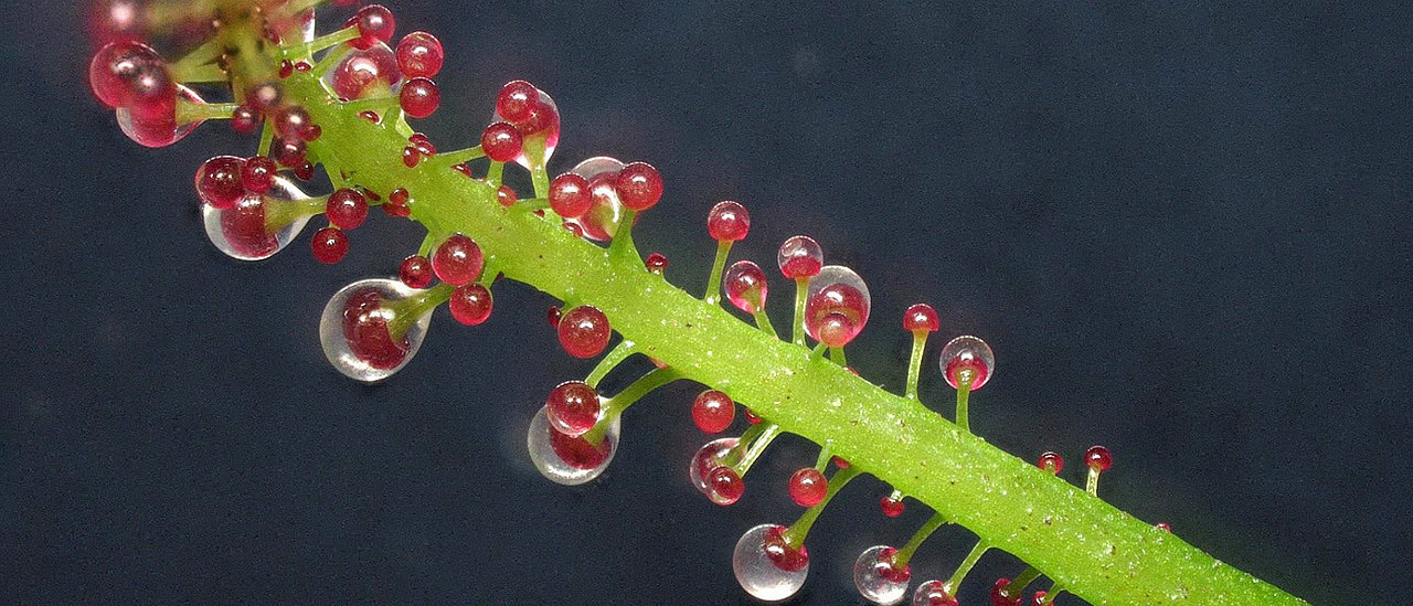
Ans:
{"label": "mostly clear round droplet, largest along the bottom edge, red gland inside", "polygon": [[786,545],[779,524],[760,524],[740,535],[731,555],[736,582],[756,599],[779,602],[796,595],[810,575],[810,555]]}

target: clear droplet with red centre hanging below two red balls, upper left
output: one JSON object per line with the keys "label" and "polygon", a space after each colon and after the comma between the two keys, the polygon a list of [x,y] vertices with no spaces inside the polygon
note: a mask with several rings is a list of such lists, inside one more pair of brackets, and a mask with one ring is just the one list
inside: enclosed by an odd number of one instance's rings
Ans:
{"label": "clear droplet with red centre hanging below two red balls, upper left", "polygon": [[264,194],[246,194],[235,206],[218,210],[201,205],[206,237],[218,250],[242,261],[270,259],[284,250],[322,209],[307,209],[307,196],[284,177],[276,177]]}

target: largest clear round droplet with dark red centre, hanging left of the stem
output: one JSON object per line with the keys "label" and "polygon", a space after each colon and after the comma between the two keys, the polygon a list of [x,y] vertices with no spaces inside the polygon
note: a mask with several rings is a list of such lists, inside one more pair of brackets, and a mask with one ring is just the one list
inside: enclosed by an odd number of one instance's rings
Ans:
{"label": "largest clear round droplet with dark red centre, hanging left of the stem", "polygon": [[341,288],[319,318],[319,343],[329,363],[363,383],[401,370],[421,347],[435,308],[420,301],[424,292],[389,278],[359,280]]}

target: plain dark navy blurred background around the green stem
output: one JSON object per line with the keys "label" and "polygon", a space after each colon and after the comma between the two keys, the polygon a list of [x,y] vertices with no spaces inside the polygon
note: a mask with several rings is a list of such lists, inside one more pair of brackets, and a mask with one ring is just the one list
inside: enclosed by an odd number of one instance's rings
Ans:
{"label": "plain dark navy blurred background around the green stem", "polygon": [[[663,171],[634,237],[675,284],[702,288],[705,212],[742,201],[738,259],[769,267],[807,233],[869,281],[849,356],[869,380],[900,388],[901,311],[930,302],[944,335],[996,350],[972,400],[988,441],[1071,463],[1104,444],[1101,494],[1133,516],[1316,605],[1395,603],[1413,547],[1406,7],[863,4],[390,3],[398,35],[447,47],[442,109],[415,124],[439,147],[530,79],[564,116],[551,170]],[[322,31],[346,16],[326,13]],[[374,213],[335,267],[307,234],[222,257],[191,178],[254,143],[211,124],[131,144],[88,92],[83,6],[7,14],[7,602],[750,603],[732,545],[797,516],[784,483],[812,448],[779,441],[715,507],[687,482],[706,438],[681,384],[627,415],[598,483],[541,479],[528,418],[591,364],[519,284],[496,285],[487,325],[438,311],[386,384],[345,380],[318,345],[325,301],[394,274],[421,234]],[[793,603],[859,602],[853,558],[928,514],[885,518],[883,494],[865,479],[829,507]],[[971,541],[938,531],[914,579]],[[962,603],[1020,568],[988,555]]]}

